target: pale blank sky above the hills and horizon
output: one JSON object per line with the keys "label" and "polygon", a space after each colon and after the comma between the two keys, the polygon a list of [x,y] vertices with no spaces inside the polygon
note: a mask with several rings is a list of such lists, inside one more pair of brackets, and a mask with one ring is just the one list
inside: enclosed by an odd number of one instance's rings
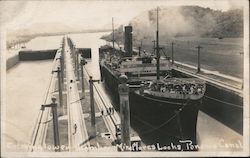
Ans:
{"label": "pale blank sky above the hills and horizon", "polygon": [[[0,22],[10,30],[29,28],[38,23],[58,23],[74,28],[111,28],[128,22],[143,11],[157,6],[198,5],[226,11],[247,0],[32,0],[0,1]],[[110,26],[109,26],[110,25]]]}

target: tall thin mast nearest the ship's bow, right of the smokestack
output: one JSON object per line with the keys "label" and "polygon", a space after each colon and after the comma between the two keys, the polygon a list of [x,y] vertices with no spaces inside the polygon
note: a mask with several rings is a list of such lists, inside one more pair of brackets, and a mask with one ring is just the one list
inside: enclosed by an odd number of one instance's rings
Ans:
{"label": "tall thin mast nearest the ship's bow, right of the smokestack", "polygon": [[156,30],[156,66],[157,66],[157,80],[160,79],[160,52],[159,52],[159,21],[158,21],[159,8],[157,7],[157,30]]}

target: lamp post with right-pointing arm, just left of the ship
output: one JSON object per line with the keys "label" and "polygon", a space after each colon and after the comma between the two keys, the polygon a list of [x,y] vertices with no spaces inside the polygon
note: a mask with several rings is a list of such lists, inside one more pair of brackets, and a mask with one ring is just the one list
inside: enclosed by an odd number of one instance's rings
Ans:
{"label": "lamp post with right-pointing arm, just left of the ship", "polygon": [[92,136],[96,136],[96,127],[95,127],[95,106],[94,106],[94,91],[93,83],[99,82],[100,80],[93,80],[93,77],[89,77],[89,92],[90,92],[90,109],[91,109],[91,127],[92,127]]}

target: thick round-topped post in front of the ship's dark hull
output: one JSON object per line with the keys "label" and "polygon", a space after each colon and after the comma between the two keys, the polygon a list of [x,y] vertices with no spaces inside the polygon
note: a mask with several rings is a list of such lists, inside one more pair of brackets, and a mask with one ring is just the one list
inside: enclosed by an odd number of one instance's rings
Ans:
{"label": "thick round-topped post in front of the ship's dark hull", "polygon": [[121,84],[119,84],[120,96],[120,116],[121,116],[121,143],[122,145],[130,147],[130,109],[129,109],[129,86],[127,84],[127,76],[121,75],[119,77]]}

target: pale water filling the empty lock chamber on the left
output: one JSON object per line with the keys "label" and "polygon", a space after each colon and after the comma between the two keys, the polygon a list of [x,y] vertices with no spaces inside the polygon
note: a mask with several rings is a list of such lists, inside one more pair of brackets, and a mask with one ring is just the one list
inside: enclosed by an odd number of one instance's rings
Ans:
{"label": "pale water filling the empty lock chamber on the left", "polygon": [[[7,71],[5,136],[11,151],[22,151],[21,146],[30,143],[51,76],[52,62],[53,60],[20,62]],[[15,148],[15,145],[21,146]]]}

